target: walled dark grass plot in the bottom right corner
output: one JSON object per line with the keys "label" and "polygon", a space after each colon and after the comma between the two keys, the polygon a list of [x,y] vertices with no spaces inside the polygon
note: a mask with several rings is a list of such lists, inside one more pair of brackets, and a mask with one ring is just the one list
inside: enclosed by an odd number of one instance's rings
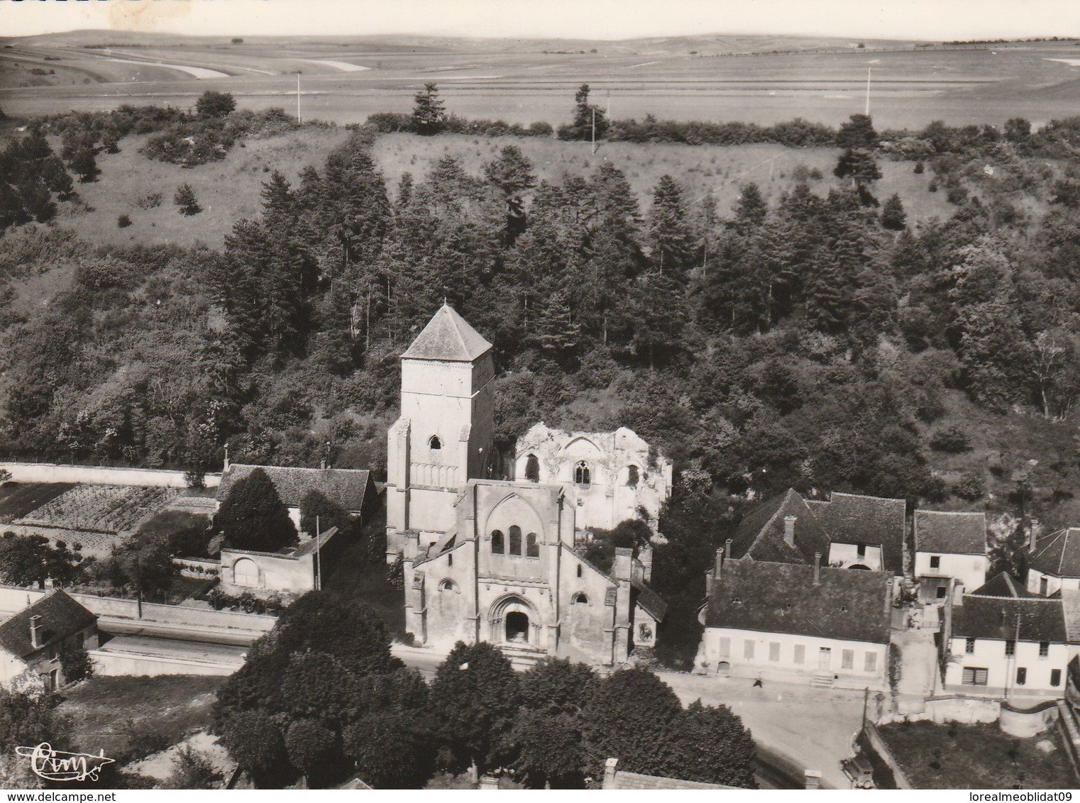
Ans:
{"label": "walled dark grass plot in the bottom right corner", "polygon": [[[916,789],[1071,789],[1076,778],[1052,731],[1027,739],[996,724],[908,722],[879,729]],[[1036,745],[1049,740],[1054,749]]]}

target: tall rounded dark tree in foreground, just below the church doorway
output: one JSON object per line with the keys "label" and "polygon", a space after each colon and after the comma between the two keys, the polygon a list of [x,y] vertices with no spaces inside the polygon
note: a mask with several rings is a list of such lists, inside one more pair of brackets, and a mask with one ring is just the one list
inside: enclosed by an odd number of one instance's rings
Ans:
{"label": "tall rounded dark tree in foreground, just below the church doorway", "polygon": [[497,765],[517,712],[518,680],[510,659],[486,641],[459,641],[435,670],[431,698],[450,768]]}

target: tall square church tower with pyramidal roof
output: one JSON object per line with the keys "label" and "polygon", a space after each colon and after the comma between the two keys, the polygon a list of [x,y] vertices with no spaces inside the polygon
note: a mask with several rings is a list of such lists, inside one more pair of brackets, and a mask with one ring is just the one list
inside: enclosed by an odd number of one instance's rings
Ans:
{"label": "tall square church tower with pyramidal roof", "polygon": [[443,536],[461,490],[492,459],[491,344],[443,304],[401,359],[401,418],[387,433],[388,561]]}

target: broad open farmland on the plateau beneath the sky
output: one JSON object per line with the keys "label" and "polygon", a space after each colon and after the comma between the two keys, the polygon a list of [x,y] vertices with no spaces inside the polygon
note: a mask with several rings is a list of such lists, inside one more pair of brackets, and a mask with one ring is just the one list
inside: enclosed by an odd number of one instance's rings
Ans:
{"label": "broad open farmland on the plateau beneath the sky", "polygon": [[[190,107],[207,89],[249,108],[362,122],[405,111],[424,81],[447,108],[509,122],[564,122],[589,82],[612,115],[837,124],[863,110],[874,70],[879,128],[1034,122],[1080,113],[1075,41],[980,47],[914,42],[699,37],[625,42],[349,38],[287,40],[135,37],[109,31],[6,40],[0,106],[43,114],[124,103]],[[777,52],[774,52],[777,51]],[[1071,64],[1070,64],[1071,63]],[[1008,114],[1003,112],[1008,109]]]}

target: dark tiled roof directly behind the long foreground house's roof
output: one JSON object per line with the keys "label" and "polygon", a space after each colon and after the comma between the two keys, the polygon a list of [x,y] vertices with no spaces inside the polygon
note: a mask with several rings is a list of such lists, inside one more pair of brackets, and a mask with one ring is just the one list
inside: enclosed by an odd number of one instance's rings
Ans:
{"label": "dark tiled roof directly behind the long foreground house's roof", "polygon": [[807,506],[834,543],[878,545],[885,568],[903,573],[907,502],[834,492],[828,502],[807,500]]}

